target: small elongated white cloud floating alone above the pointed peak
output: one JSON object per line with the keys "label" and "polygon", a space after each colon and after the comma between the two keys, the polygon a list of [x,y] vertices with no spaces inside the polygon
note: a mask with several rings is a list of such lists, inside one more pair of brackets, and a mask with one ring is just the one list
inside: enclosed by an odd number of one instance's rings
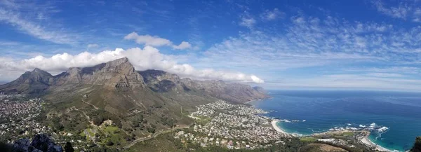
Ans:
{"label": "small elongated white cloud floating alone above the pointed peak", "polygon": [[163,39],[159,36],[150,36],[150,35],[139,35],[136,32],[132,32],[131,34],[128,34],[124,36],[124,39],[126,40],[134,40],[136,43],[144,44],[145,46],[171,46],[174,49],[182,50],[186,48],[192,48],[192,45],[188,42],[182,41],[180,45],[174,45],[173,42],[171,42],[168,39]]}

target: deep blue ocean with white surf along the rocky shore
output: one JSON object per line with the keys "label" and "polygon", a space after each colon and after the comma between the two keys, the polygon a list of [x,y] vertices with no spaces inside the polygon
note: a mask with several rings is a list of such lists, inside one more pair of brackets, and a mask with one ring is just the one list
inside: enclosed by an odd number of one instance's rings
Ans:
{"label": "deep blue ocean with white surf along the rocky shore", "polygon": [[390,150],[406,151],[421,136],[420,92],[269,90],[270,99],[251,102],[281,119],[289,133],[370,130],[370,140]]}

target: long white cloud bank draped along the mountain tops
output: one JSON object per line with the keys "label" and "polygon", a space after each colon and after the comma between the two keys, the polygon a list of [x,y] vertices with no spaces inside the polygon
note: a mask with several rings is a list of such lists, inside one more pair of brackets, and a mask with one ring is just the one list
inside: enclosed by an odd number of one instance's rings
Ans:
{"label": "long white cloud bank draped along the mountain tops", "polygon": [[[182,77],[189,77],[203,80],[224,80],[241,83],[264,83],[261,78],[255,75],[243,74],[233,71],[217,71],[214,69],[195,69],[189,64],[179,64],[175,57],[159,53],[159,50],[152,46],[145,48],[130,48],[123,50],[104,50],[100,53],[83,52],[78,55],[62,53],[52,57],[36,56],[26,60],[14,61],[7,58],[0,58],[0,71],[15,71],[9,73],[7,78],[17,78],[18,73],[29,71],[34,68],[44,69],[53,74],[65,71],[69,67],[89,67],[103,62],[109,62],[121,57],[128,57],[136,70],[159,69],[178,74]],[[10,80],[8,80],[10,81]]]}

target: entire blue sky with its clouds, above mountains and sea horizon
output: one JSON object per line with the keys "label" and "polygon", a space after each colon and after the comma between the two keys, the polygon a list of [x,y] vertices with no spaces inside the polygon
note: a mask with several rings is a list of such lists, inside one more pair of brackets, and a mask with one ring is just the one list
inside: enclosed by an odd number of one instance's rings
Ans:
{"label": "entire blue sky with its clouds, above mountains and sea horizon", "polygon": [[419,1],[0,1],[0,81],[128,57],[269,89],[421,91]]}

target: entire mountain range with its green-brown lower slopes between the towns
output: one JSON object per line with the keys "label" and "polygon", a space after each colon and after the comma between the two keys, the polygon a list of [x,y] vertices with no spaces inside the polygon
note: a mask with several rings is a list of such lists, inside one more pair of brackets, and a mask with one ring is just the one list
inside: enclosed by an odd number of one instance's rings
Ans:
{"label": "entire mountain range with its green-brown lower slopes between the towns", "polygon": [[[6,94],[41,97],[43,124],[54,132],[81,134],[89,141],[128,143],[135,137],[185,127],[187,117],[201,104],[225,99],[244,103],[267,97],[261,90],[239,83],[196,81],[166,71],[136,71],[124,57],[93,67],[72,67],[56,76],[41,69],[0,85]],[[114,133],[107,133],[112,126]],[[95,141],[95,138],[104,141]]]}

